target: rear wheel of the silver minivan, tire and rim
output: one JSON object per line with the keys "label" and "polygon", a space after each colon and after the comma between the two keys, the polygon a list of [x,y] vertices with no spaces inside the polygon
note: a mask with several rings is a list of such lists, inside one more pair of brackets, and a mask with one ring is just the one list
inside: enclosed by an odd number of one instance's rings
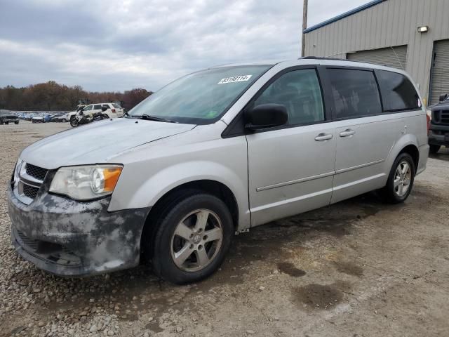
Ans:
{"label": "rear wheel of the silver minivan, tire and rim", "polygon": [[[408,169],[404,174],[405,164],[408,165]],[[401,170],[402,173],[399,173],[398,170]],[[414,181],[415,161],[408,153],[399,154],[393,166],[391,166],[387,185],[381,191],[384,199],[390,204],[400,204],[406,201],[410,192],[412,192]],[[406,190],[404,190],[405,188]]]}

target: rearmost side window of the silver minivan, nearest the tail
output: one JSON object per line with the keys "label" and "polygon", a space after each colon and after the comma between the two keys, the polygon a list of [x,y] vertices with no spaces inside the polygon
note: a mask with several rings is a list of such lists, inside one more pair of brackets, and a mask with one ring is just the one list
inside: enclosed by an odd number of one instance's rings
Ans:
{"label": "rearmost side window of the silver minivan, nearest the tail", "polygon": [[415,87],[403,74],[378,70],[376,75],[384,111],[415,110],[421,106]]}

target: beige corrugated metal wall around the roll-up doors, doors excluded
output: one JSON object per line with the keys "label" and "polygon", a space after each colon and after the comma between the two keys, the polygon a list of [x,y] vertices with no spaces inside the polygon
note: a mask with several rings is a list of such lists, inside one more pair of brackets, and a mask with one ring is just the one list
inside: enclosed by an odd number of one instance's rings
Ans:
{"label": "beige corrugated metal wall around the roll-up doors, doors excluded", "polygon": [[[449,0],[388,0],[305,34],[306,56],[346,58],[347,53],[408,46],[406,71],[424,98],[434,41],[449,39]],[[417,27],[427,25],[429,32]]]}

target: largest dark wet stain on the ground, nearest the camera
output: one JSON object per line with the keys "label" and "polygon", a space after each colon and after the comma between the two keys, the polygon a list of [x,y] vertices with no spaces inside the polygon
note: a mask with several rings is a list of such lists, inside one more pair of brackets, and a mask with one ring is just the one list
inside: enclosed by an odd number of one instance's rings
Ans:
{"label": "largest dark wet stain on the ground, nearest the camera", "polygon": [[301,307],[309,310],[329,310],[335,308],[344,300],[344,292],[349,289],[349,283],[337,281],[333,284],[307,284],[294,289],[294,300]]}

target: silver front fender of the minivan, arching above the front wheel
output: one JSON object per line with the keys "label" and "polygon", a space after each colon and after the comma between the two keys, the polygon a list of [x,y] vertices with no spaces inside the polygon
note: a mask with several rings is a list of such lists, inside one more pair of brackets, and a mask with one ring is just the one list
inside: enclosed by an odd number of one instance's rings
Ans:
{"label": "silver front fender of the minivan, arching above the front wheel", "polygon": [[152,207],[175,187],[196,180],[214,180],[234,194],[239,229],[250,227],[246,139],[217,138],[184,144],[180,139],[171,141],[175,145],[149,145],[126,154],[108,211]]}

